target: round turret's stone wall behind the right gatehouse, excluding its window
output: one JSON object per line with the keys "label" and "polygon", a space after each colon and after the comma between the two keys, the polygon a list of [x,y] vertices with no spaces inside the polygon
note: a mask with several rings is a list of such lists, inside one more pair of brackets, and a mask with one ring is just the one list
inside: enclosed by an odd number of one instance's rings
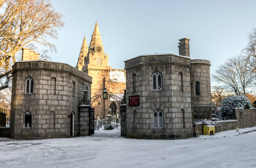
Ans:
{"label": "round turret's stone wall behind the right gatehouse, excluding its window", "polygon": [[[210,61],[191,59],[191,96],[195,104],[211,103]],[[195,83],[200,82],[200,96],[195,95]]]}

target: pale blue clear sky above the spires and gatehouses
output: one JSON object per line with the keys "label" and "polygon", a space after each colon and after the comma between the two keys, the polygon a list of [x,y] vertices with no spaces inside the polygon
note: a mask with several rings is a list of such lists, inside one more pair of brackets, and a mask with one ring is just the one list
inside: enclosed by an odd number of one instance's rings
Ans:
{"label": "pale blue clear sky above the spires and gatehouses", "polygon": [[191,59],[217,65],[239,54],[256,27],[256,0],[51,0],[64,15],[53,61],[75,66],[85,34],[90,44],[99,25],[111,68],[140,54],[179,54],[178,40],[190,39]]}

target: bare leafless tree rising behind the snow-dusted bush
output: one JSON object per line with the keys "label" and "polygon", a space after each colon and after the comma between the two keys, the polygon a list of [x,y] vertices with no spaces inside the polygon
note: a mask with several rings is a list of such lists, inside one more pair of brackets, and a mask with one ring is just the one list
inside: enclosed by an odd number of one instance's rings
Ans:
{"label": "bare leafless tree rising behind the snow-dusted bush", "polygon": [[252,69],[251,59],[238,55],[218,66],[212,77],[225,91],[234,94],[252,93],[256,86],[256,76]]}

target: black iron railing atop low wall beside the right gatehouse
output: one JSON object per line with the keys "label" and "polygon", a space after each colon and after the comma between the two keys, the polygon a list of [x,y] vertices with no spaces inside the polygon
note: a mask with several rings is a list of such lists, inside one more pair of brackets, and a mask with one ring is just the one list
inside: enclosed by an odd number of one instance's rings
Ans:
{"label": "black iron railing atop low wall beside the right gatehouse", "polygon": [[234,109],[236,107],[214,106],[209,104],[193,104],[194,121],[199,122],[203,119],[211,120],[213,118],[219,120],[235,119]]}

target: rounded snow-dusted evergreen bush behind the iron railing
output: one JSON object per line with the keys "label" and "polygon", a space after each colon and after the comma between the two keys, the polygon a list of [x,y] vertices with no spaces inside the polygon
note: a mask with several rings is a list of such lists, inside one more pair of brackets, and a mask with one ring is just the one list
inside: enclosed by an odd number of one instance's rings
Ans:
{"label": "rounded snow-dusted evergreen bush behind the iron railing", "polygon": [[[233,95],[228,96],[222,99],[220,106],[231,106],[231,107],[241,107],[245,109],[251,108],[251,102],[246,97],[246,95]],[[233,109],[232,108],[223,108],[222,115],[224,119],[233,119]]]}

